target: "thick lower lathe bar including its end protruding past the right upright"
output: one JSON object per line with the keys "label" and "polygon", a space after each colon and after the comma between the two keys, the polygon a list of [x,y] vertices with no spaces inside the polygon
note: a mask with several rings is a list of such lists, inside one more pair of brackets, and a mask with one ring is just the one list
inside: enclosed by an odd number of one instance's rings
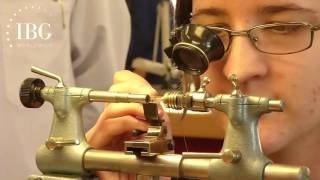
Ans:
{"label": "thick lower lathe bar including its end protruding past the right upright", "polygon": [[[181,155],[166,154],[153,158],[127,155],[118,151],[88,150],[84,168],[89,171],[118,171],[148,176],[208,178],[210,159],[184,159]],[[306,167],[268,164],[264,180],[309,180]]]}

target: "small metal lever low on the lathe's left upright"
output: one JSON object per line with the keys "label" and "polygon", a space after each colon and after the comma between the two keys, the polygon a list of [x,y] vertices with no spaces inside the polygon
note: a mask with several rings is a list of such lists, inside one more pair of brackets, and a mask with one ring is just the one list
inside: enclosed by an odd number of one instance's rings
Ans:
{"label": "small metal lever low on the lathe's left upright", "polygon": [[65,139],[63,137],[50,137],[46,141],[46,146],[49,150],[56,150],[63,148],[64,146],[73,146],[73,145],[79,145],[79,140],[74,139]]}

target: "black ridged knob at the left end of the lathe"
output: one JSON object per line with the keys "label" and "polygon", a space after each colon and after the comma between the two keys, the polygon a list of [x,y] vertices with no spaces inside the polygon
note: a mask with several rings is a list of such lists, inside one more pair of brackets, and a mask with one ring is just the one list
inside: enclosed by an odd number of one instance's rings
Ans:
{"label": "black ridged knob at the left end of the lathe", "polygon": [[39,108],[44,103],[41,97],[41,89],[45,87],[44,82],[37,78],[28,78],[20,87],[20,101],[27,108]]}

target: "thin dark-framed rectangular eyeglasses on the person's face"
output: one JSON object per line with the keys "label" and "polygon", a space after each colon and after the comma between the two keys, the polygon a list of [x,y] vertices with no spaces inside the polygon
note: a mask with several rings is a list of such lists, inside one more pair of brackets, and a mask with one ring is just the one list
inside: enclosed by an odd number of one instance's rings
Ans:
{"label": "thin dark-framed rectangular eyeglasses on the person's face", "polygon": [[310,48],[314,32],[320,29],[320,25],[300,22],[263,24],[244,31],[210,25],[206,27],[221,38],[226,51],[230,48],[233,36],[247,36],[259,51],[277,55],[298,53]]}

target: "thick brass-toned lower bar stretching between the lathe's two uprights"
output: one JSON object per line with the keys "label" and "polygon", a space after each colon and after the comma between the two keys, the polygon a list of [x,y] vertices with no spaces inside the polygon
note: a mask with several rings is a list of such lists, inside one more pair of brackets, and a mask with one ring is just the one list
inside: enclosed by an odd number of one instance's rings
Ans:
{"label": "thick brass-toned lower bar stretching between the lathe's two uprights", "polygon": [[210,159],[183,159],[167,154],[136,157],[123,152],[89,150],[84,156],[86,170],[108,170],[149,176],[208,178]]}

